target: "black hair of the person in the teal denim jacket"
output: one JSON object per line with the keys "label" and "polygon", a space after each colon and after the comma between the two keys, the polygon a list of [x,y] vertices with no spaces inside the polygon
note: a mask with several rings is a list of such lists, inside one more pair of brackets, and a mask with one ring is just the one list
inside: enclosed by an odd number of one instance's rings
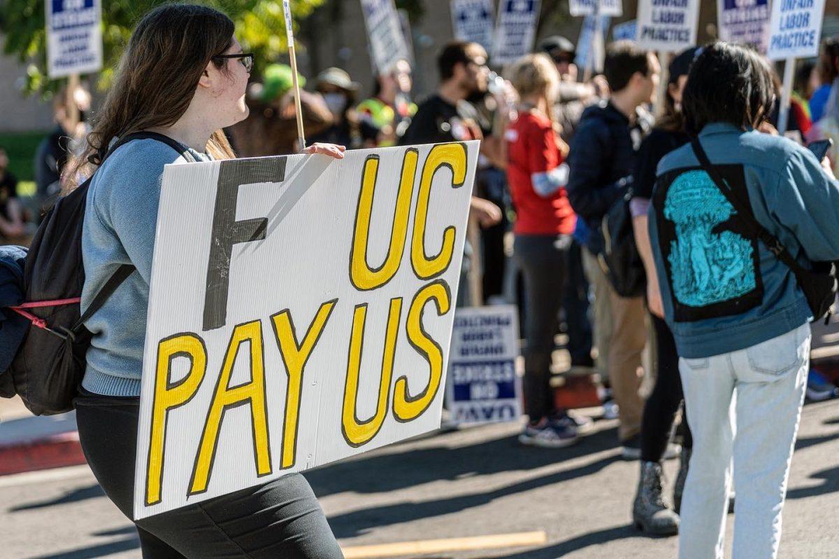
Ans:
{"label": "black hair of the person in the teal denim jacket", "polygon": [[711,122],[746,130],[769,117],[775,100],[773,70],[754,49],[717,41],[696,57],[682,94],[685,130]]}

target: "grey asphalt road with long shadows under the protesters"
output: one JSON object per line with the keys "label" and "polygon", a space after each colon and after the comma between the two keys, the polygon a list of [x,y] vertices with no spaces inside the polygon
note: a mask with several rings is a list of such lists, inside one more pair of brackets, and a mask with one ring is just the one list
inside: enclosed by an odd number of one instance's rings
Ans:
{"label": "grey asphalt road with long shadows under the protesters", "polygon": [[[519,447],[517,433],[504,424],[435,434],[307,478],[347,549],[544,531],[539,546],[428,557],[675,556],[675,538],[648,539],[629,525],[638,464],[618,458],[615,422],[597,422],[596,432],[563,450]],[[672,479],[676,462],[667,468]],[[789,488],[780,556],[839,556],[839,401],[805,407]],[[132,525],[85,466],[0,478],[0,533],[0,557],[8,559],[140,557]]]}

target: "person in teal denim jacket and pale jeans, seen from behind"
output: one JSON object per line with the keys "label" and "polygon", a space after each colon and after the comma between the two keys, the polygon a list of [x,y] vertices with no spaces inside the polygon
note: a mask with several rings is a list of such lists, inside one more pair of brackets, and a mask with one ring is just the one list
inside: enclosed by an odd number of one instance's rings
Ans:
{"label": "person in teal denim jacket and pale jeans, seen from behind", "polygon": [[839,182],[807,148],[756,130],[773,102],[758,53],[706,46],[682,98],[691,142],[659,163],[649,210],[693,434],[680,559],[722,558],[732,457],[733,557],[778,555],[809,321],[836,296],[822,270],[839,259]]}

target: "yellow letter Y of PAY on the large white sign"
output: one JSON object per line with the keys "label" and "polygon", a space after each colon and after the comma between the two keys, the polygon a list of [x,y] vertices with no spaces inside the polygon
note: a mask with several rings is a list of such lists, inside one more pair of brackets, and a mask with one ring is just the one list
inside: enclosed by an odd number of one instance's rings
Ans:
{"label": "yellow letter Y of PAY on the large white sign", "polygon": [[297,455],[297,420],[300,417],[303,371],[337,302],[337,299],[332,299],[320,305],[315,319],[309,324],[303,336],[303,342],[300,344],[297,343],[297,333],[294,330],[294,322],[291,320],[289,309],[271,317],[271,323],[274,324],[274,336],[279,345],[280,355],[283,357],[286,373],[289,375],[283,423],[283,468],[294,466],[294,458]]}

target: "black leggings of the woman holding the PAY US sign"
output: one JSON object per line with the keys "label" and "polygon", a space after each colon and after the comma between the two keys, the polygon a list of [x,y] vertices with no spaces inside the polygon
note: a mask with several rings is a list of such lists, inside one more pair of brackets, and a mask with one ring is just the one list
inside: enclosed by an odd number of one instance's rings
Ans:
{"label": "black leggings of the woman holding the PAY US sign", "polygon": [[[138,398],[76,399],[81,448],[122,514],[133,516]],[[309,483],[289,474],[136,523],[144,559],[339,559],[343,557]]]}

